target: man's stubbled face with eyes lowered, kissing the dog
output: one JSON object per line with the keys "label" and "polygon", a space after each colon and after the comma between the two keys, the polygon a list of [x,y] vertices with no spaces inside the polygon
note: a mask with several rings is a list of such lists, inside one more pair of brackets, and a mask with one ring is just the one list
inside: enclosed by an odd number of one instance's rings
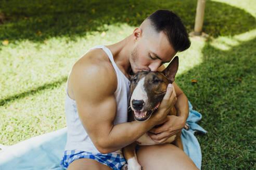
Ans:
{"label": "man's stubbled face with eyes lowered, kissing the dog", "polygon": [[130,56],[133,73],[156,72],[158,67],[163,63],[170,62],[176,54],[163,32],[137,38]]}

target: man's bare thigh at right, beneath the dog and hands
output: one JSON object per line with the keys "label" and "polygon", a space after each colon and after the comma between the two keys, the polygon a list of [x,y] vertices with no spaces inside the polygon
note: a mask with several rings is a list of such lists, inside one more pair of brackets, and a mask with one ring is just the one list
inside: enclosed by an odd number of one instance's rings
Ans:
{"label": "man's bare thigh at right, beneath the dog and hands", "polygon": [[172,144],[140,146],[137,158],[143,170],[198,169],[183,150]]}

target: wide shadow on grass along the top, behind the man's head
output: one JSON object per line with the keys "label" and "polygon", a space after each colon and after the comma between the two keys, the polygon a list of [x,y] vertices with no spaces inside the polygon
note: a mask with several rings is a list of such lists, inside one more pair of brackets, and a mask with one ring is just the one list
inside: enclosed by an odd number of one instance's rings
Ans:
{"label": "wide shadow on grass along the top, behind the man's head", "polygon": [[[197,1],[4,1],[6,21],[0,25],[0,40],[29,39],[43,41],[55,36],[84,36],[92,31],[106,31],[109,24],[138,26],[151,12],[170,9],[193,31]],[[213,37],[236,35],[255,29],[256,21],[245,10],[207,1],[203,31]],[[2,43],[1,43],[2,45]],[[0,46],[1,46],[0,45]]]}

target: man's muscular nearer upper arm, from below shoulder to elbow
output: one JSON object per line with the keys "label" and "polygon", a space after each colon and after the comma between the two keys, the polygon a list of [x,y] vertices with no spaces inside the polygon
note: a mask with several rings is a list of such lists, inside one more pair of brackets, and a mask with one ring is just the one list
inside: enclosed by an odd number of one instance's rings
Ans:
{"label": "man's muscular nearer upper arm, from below shoulder to elbow", "polygon": [[93,142],[109,134],[116,116],[117,104],[114,98],[115,74],[111,68],[89,65],[76,67],[71,72],[79,118]]}

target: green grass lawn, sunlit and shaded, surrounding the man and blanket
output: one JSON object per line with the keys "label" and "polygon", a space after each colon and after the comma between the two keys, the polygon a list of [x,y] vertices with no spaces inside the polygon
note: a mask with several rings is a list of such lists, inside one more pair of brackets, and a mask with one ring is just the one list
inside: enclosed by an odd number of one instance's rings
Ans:
{"label": "green grass lawn, sunlit and shaded, surrounding the man and blanket", "polygon": [[[122,40],[159,8],[175,11],[193,31],[196,3],[2,1],[0,143],[13,145],[66,126],[67,76],[86,50]],[[256,168],[255,11],[255,1],[207,1],[203,31],[210,38],[191,37],[191,47],[178,53],[176,83],[208,131],[196,135],[202,169]]]}

